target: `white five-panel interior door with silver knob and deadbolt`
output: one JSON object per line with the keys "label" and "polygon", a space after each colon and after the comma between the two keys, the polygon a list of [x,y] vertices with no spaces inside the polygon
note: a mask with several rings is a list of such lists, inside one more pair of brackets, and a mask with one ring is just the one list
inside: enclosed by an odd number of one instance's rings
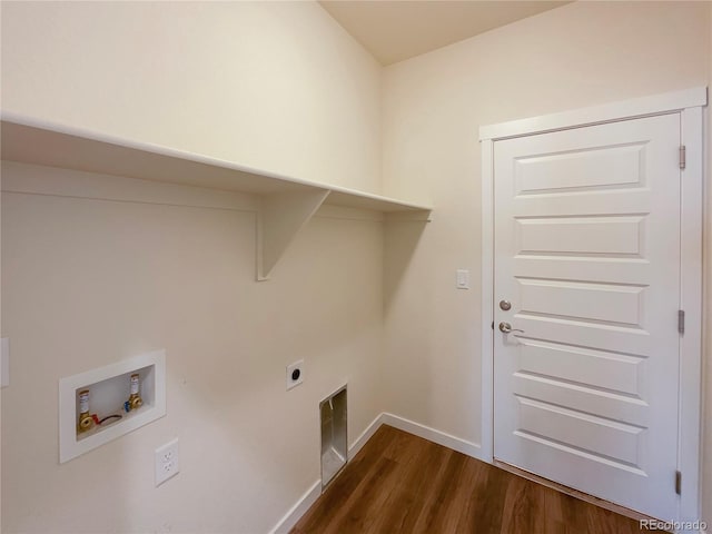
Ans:
{"label": "white five-panel interior door with silver knob and deadbolt", "polygon": [[678,507],[680,128],[672,113],[494,142],[494,455],[662,520]]}

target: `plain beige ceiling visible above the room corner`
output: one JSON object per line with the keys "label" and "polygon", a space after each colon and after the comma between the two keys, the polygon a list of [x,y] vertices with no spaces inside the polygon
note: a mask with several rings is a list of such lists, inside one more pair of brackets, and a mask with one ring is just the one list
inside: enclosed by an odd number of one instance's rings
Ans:
{"label": "plain beige ceiling visible above the room corner", "polygon": [[429,52],[566,1],[322,0],[382,65]]}

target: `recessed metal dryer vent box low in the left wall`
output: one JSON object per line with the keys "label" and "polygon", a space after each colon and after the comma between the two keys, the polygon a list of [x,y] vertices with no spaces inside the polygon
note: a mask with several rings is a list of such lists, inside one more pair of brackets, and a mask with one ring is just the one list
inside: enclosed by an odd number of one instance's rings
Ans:
{"label": "recessed metal dryer vent box low in the left wall", "polygon": [[346,386],[319,403],[322,421],[322,488],[346,465]]}

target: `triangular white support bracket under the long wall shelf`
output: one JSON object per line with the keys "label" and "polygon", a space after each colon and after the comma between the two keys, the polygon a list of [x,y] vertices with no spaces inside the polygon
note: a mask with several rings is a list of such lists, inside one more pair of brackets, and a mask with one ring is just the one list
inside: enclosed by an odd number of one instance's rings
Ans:
{"label": "triangular white support bracket under the long wall shelf", "polygon": [[257,215],[257,280],[269,279],[279,258],[329,192],[315,188],[263,195]]}

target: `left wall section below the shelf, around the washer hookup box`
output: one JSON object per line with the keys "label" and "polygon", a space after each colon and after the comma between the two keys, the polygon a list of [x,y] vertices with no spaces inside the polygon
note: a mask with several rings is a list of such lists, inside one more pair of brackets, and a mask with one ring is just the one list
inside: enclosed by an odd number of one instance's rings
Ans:
{"label": "left wall section below the shelf, around the washer hookup box", "polygon": [[[3,167],[7,189],[28,176],[80,175]],[[348,382],[352,441],[379,413],[379,220],[317,216],[256,283],[255,214],[229,195],[211,209],[171,205],[171,186],[157,204],[7,189],[3,533],[267,532],[319,478],[319,400]],[[58,379],[161,347],[168,415],[59,465]],[[176,436],[181,473],[155,488],[154,449]]]}

